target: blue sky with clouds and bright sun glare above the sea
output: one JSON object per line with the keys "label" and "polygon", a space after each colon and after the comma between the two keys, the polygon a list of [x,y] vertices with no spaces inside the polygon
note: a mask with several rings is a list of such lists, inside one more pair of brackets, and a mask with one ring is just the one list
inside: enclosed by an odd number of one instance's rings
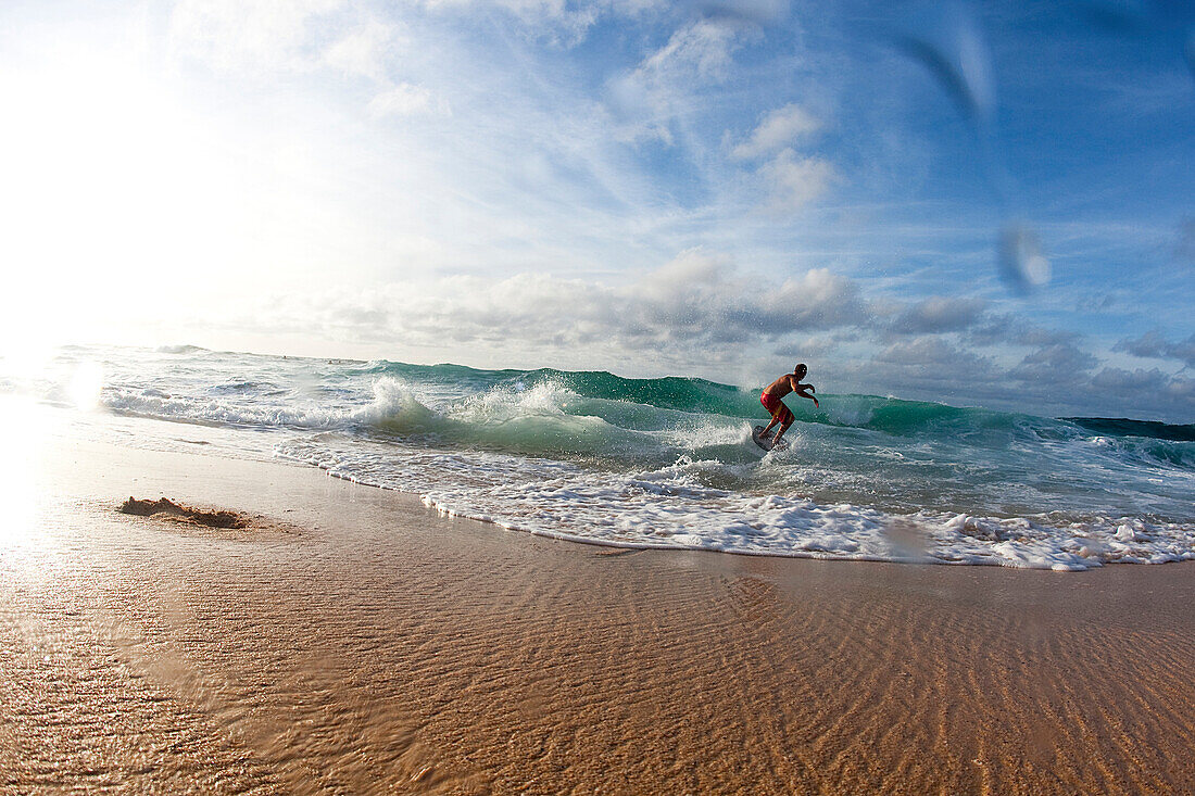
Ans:
{"label": "blue sky with clouds and bright sun glare above the sea", "polygon": [[1195,6],[7,0],[0,348],[1195,422]]}

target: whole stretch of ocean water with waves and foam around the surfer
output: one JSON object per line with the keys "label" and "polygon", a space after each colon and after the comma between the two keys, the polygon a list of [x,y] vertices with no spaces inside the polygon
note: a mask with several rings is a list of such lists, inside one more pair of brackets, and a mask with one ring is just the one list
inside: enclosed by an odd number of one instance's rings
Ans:
{"label": "whole stretch of ocean water with waves and foam around the surfer", "polygon": [[[227,429],[439,510],[625,547],[1080,570],[1195,558],[1195,425],[605,372],[68,347],[0,393]],[[497,528],[496,528],[497,531]]]}

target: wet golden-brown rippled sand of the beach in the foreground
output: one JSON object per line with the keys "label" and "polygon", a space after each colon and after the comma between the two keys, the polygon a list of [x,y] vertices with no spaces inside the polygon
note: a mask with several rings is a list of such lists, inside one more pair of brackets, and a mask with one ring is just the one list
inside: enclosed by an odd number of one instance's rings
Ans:
{"label": "wet golden-brown rippled sand of the beach in the foreground", "polygon": [[10,478],[0,792],[1195,791],[1195,565],[618,551],[206,449]]}

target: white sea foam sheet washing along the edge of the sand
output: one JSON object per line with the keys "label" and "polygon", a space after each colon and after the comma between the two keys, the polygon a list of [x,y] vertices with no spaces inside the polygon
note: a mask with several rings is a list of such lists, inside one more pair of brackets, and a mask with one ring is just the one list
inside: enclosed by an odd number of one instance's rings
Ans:
{"label": "white sea foam sheet washing along the edge of the sand", "polygon": [[546,459],[399,453],[390,446],[333,453],[288,445],[278,454],[341,478],[419,494],[446,515],[592,544],[1054,570],[1195,558],[1195,529],[1172,523],[894,515],[850,503],[718,490],[695,476],[722,463],[681,459],[615,474]]}

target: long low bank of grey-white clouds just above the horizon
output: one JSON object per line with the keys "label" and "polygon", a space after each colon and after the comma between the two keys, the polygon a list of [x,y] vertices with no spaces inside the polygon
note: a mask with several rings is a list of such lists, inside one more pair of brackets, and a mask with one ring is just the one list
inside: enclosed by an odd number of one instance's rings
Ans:
{"label": "long low bank of grey-white clouds just above the horizon", "polygon": [[[263,310],[278,330],[321,327],[387,356],[399,344],[482,367],[602,368],[624,375],[704,375],[744,386],[808,360],[825,392],[899,394],[1053,415],[1179,420],[1195,379],[1098,357],[1081,336],[992,312],[967,296],[874,300],[815,268],[747,275],[724,256],[681,253],[609,286],[526,273],[453,276],[380,290],[330,293]],[[1134,356],[1189,356],[1191,341],[1132,341]],[[484,351],[478,359],[477,351]],[[399,359],[399,354],[388,354]],[[581,365],[583,363],[583,366]]]}

